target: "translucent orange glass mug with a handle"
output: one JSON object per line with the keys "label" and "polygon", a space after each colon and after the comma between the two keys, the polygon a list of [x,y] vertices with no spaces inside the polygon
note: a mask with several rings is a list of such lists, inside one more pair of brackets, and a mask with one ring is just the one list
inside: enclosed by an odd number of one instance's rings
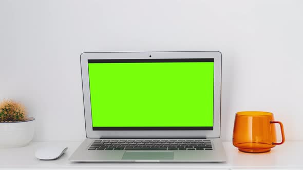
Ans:
{"label": "translucent orange glass mug with a handle", "polygon": [[[276,141],[275,123],[281,128],[282,141]],[[238,112],[235,117],[233,145],[239,151],[248,153],[269,152],[272,147],[285,141],[283,124],[274,121],[270,112],[247,111]]]}

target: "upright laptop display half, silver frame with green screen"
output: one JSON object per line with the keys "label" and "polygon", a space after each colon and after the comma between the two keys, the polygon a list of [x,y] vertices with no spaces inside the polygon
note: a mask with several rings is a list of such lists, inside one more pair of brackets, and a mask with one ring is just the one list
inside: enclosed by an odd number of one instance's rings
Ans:
{"label": "upright laptop display half, silver frame with green screen", "polygon": [[221,53],[82,53],[87,138],[219,138]]}

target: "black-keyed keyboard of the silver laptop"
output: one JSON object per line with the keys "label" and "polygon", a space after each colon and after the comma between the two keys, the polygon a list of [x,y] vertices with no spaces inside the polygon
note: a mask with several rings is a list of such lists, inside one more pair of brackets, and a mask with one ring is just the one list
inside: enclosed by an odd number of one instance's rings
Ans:
{"label": "black-keyed keyboard of the silver laptop", "polygon": [[88,150],[213,150],[210,140],[94,140]]}

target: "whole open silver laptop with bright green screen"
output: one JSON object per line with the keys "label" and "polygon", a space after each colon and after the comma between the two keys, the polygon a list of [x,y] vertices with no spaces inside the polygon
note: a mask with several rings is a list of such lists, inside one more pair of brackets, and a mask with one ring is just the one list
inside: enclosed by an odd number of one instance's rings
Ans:
{"label": "whole open silver laptop with bright green screen", "polygon": [[221,53],[82,53],[74,162],[222,162]]}

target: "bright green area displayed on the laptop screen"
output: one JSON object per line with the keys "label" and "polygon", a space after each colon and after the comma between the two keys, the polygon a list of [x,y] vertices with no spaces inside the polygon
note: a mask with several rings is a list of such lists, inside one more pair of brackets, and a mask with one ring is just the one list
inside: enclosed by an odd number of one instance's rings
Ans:
{"label": "bright green area displayed on the laptop screen", "polygon": [[213,126],[214,62],[88,63],[93,127]]}

